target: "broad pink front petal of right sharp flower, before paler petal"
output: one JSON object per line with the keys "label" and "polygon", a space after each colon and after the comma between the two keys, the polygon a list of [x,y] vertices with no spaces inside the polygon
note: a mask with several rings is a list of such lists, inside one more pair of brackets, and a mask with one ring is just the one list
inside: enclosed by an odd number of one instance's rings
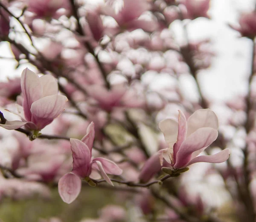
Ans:
{"label": "broad pink front petal of right sharp flower, before paler petal", "polygon": [[210,127],[196,130],[181,144],[177,152],[174,168],[178,169],[186,166],[191,160],[193,152],[208,147],[215,141],[217,136],[218,131]]}

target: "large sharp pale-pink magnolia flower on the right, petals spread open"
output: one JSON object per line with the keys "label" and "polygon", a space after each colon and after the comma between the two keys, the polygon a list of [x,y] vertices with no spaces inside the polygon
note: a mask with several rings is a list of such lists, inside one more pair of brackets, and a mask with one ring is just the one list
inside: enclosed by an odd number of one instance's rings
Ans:
{"label": "large sharp pale-pink magnolia flower on the right, petals spread open", "polygon": [[165,119],[159,123],[159,128],[169,148],[148,159],[140,173],[143,182],[151,179],[162,166],[177,170],[197,162],[221,163],[229,157],[228,149],[215,155],[198,156],[218,136],[218,118],[212,110],[197,110],[188,120],[179,110],[178,122]]}

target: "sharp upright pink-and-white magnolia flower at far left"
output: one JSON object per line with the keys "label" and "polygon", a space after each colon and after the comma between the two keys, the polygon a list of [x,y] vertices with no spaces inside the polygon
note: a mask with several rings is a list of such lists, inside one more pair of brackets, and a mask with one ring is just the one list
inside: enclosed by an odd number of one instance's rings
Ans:
{"label": "sharp upright pink-and-white magnolia flower at far left", "polygon": [[23,114],[18,114],[22,121],[6,121],[0,124],[7,130],[26,126],[29,130],[40,131],[50,124],[64,110],[67,97],[58,95],[58,84],[51,75],[39,77],[29,69],[21,74],[23,94]]}

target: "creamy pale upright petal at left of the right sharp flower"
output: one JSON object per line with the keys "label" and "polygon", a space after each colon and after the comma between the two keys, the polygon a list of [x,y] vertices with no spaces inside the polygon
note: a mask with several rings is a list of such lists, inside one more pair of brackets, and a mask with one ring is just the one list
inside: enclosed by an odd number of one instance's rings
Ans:
{"label": "creamy pale upright petal at left of the right sharp flower", "polygon": [[166,143],[173,146],[177,141],[178,123],[174,119],[164,119],[158,124],[159,129],[163,132]]}

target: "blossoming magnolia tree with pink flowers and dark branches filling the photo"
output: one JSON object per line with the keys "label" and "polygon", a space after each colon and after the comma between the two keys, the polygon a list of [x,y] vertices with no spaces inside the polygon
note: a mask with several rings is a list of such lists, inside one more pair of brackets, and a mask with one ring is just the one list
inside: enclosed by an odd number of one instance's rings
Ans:
{"label": "blossoming magnolia tree with pink flowers and dark branches filling the photo", "polygon": [[[231,27],[253,42],[253,59],[247,93],[223,103],[218,121],[198,82],[211,42],[187,33],[192,20],[210,19],[209,4],[1,0],[0,41],[17,69],[28,66],[0,83],[2,201],[53,198],[58,187],[74,210],[81,192],[98,190],[115,205],[80,221],[255,222],[256,12]],[[183,95],[184,76],[196,100]],[[52,216],[39,221],[67,221]]]}

